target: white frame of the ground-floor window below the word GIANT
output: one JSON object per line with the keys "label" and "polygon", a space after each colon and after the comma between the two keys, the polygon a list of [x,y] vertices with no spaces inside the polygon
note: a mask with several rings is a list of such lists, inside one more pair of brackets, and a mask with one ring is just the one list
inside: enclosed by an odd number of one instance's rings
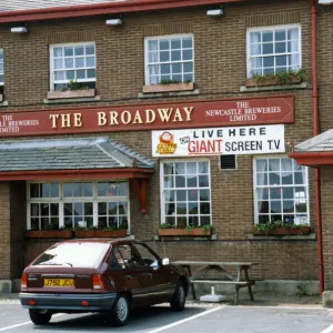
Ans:
{"label": "white frame of the ground-floor window below the word GIANT", "polygon": [[[161,208],[161,224],[165,223],[165,198],[164,198],[164,163],[174,163],[174,162],[208,162],[208,169],[209,169],[209,192],[210,192],[210,214],[204,214],[204,216],[210,216],[210,225],[213,225],[213,213],[212,213],[212,184],[211,184],[211,162],[208,159],[178,159],[178,160],[161,160],[160,161],[160,208]],[[182,188],[180,188],[182,189]],[[193,190],[193,189],[200,189],[199,186],[196,188],[183,188],[186,190]],[[206,189],[206,188],[203,188]],[[176,202],[176,201],[175,201]],[[188,200],[186,200],[188,203]],[[189,214],[186,214],[188,216]],[[200,218],[201,214],[198,213],[198,216]],[[200,226],[200,219],[199,219],[199,226]]]}

